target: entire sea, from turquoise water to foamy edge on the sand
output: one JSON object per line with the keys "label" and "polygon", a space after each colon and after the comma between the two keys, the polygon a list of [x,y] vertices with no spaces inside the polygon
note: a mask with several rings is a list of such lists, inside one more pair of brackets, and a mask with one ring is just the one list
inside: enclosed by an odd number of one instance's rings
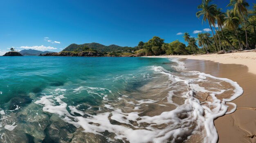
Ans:
{"label": "entire sea, from turquoise water to foamy edge on the sand", "polygon": [[216,142],[213,119],[243,90],[229,79],[184,72],[183,64],[0,57],[0,142]]}

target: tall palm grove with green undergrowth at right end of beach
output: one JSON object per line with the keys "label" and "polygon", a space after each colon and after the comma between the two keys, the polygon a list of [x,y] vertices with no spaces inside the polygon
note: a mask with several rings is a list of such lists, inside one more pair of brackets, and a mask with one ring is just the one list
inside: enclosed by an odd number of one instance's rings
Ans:
{"label": "tall palm grove with green undergrowth at right end of beach", "polygon": [[[211,48],[209,52],[255,48],[255,4],[254,9],[249,10],[249,4],[246,0],[230,0],[227,7],[231,9],[223,13],[221,8],[218,8],[216,4],[211,4],[211,2],[212,0],[202,0],[196,16],[202,18],[203,22],[210,24],[213,37],[207,36],[207,39],[204,39],[203,35],[198,34],[198,45],[204,50],[206,50],[205,46],[209,46]],[[218,29],[216,29],[216,25],[218,25]],[[214,43],[211,42],[211,39],[214,39]],[[215,50],[212,51],[212,48]]]}

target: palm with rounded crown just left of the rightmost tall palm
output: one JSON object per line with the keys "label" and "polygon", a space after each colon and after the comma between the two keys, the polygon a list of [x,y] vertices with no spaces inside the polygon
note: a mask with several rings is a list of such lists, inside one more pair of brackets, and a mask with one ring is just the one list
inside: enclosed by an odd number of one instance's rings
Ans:
{"label": "palm with rounded crown just left of the rightmost tall palm", "polygon": [[239,27],[240,24],[240,18],[238,17],[238,15],[236,13],[234,13],[234,10],[227,10],[227,17],[224,18],[225,19],[225,26],[227,29],[231,30],[231,31],[235,31],[237,40],[238,40],[238,44],[240,46],[240,49],[242,48],[240,40],[238,38],[236,29]]}

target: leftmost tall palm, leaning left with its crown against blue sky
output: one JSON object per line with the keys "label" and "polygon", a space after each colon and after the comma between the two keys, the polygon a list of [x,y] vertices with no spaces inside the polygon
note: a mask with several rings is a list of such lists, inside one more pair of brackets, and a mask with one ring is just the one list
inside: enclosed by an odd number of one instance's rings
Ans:
{"label": "leftmost tall palm, leaning left with its crown against blue sky", "polygon": [[[211,24],[213,24],[215,26],[215,18],[214,18],[214,12],[216,11],[216,4],[209,4],[212,0],[202,0],[202,4],[200,4],[198,6],[198,9],[202,9],[201,11],[198,11],[196,13],[196,16],[198,18],[200,18],[201,16],[203,16],[203,20],[202,22],[206,22],[206,20],[208,20],[209,22],[209,25],[211,27]],[[216,41],[216,37],[213,33],[213,29],[211,27],[211,32],[213,34],[213,38],[214,38],[214,41],[216,43],[216,47],[219,49],[218,47],[218,43]]]}

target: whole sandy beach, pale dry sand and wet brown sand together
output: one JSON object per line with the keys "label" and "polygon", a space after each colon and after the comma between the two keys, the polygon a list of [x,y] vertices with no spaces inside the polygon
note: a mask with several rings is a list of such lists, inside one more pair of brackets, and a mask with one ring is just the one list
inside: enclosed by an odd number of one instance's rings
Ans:
{"label": "whole sandy beach, pale dry sand and wet brown sand together", "polygon": [[219,143],[256,142],[256,51],[210,55],[173,55],[185,62],[186,70],[196,70],[238,82],[244,93],[233,103],[237,110],[214,121]]}

